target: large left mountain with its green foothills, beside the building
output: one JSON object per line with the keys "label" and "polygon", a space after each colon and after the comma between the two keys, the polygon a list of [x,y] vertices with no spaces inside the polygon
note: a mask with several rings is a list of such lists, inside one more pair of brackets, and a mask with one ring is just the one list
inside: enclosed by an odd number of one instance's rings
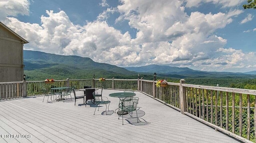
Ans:
{"label": "large left mountain with its green foothills, beside the building", "polygon": [[62,56],[39,51],[24,50],[24,74],[30,81],[54,79],[137,78],[134,71],[118,66],[94,62],[90,58]]}

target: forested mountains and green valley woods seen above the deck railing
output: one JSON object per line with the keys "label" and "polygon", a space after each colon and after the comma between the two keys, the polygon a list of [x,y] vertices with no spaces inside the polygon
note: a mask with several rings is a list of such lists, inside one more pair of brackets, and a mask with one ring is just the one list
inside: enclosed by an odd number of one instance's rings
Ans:
{"label": "forested mountains and green valley woods seen above the deck railing", "polygon": [[[227,72],[204,72],[195,71],[189,68],[177,68],[152,65],[151,72],[144,72],[145,69],[140,68],[141,72],[129,71],[110,64],[97,63],[90,58],[79,56],[61,56],[48,54],[37,51],[24,50],[24,73],[27,75],[28,81],[42,81],[46,78],[61,79],[91,79],[108,78],[116,79],[137,79],[138,73],[140,77],[147,80],[153,80],[153,71],[168,69],[165,73],[157,72],[157,79],[166,79],[170,82],[179,82],[185,79],[188,84],[210,85],[221,87],[234,87],[245,89],[256,89],[256,75],[245,73],[227,73]],[[146,66],[150,68],[150,66]],[[161,69],[162,68],[162,69]],[[135,68],[132,68],[133,70]],[[173,71],[171,71],[173,70]],[[173,73],[173,74],[172,74]]]}

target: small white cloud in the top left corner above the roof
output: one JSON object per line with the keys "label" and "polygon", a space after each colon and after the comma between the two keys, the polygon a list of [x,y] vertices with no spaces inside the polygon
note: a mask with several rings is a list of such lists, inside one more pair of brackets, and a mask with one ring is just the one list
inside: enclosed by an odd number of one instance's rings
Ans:
{"label": "small white cloud in the top left corner above the roof", "polygon": [[0,21],[7,16],[29,15],[28,0],[0,0]]}

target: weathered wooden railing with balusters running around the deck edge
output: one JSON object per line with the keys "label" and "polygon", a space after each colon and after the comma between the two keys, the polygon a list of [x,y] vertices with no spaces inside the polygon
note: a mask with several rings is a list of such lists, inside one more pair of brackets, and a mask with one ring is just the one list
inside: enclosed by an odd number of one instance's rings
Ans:
{"label": "weathered wooden railing with balusters running around the deck edge", "polygon": [[[168,82],[167,87],[156,87],[155,80],[141,79],[66,79],[52,83],[19,81],[0,83],[0,99],[41,95],[42,88],[84,86],[105,89],[138,90],[182,114],[210,125],[243,142],[256,142],[256,90]],[[26,90],[25,90],[26,89]]]}

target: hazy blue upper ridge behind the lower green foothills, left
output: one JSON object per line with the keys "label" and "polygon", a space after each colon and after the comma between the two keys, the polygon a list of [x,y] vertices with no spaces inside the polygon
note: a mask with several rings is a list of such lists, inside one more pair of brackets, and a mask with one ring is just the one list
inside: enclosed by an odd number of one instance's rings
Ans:
{"label": "hazy blue upper ridge behind the lower green foothills, left", "polygon": [[90,58],[84,58],[80,56],[62,56],[30,50],[24,50],[24,63],[25,70],[49,68],[51,66],[56,66],[57,64],[64,64],[84,70],[102,69],[128,75],[134,74],[134,72],[128,71],[124,68],[120,68],[118,66],[94,62]]}

